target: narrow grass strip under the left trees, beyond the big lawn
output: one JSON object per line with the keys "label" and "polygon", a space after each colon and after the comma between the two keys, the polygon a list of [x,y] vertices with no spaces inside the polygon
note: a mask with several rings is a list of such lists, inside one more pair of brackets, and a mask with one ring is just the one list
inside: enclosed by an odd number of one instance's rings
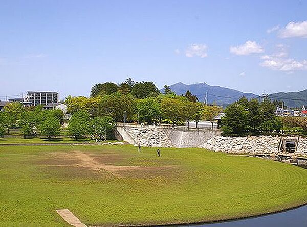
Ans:
{"label": "narrow grass strip under the left trees, beyond the big lawn", "polygon": [[[112,142],[112,141],[107,141],[107,142]],[[96,143],[96,141],[90,140],[89,138],[76,140],[74,138],[69,138],[69,137],[52,138],[51,140],[48,140],[47,138],[28,138],[28,139],[0,138],[0,144],[8,144],[8,143]]]}

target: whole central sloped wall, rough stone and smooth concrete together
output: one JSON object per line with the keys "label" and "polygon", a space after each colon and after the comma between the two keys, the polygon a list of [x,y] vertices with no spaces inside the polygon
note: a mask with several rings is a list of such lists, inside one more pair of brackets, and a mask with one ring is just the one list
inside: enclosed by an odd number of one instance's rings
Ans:
{"label": "whole central sloped wall, rough stone and smooth concrete together", "polygon": [[219,130],[163,129],[160,127],[117,127],[116,138],[133,145],[152,147],[198,147],[208,139],[221,135]]}

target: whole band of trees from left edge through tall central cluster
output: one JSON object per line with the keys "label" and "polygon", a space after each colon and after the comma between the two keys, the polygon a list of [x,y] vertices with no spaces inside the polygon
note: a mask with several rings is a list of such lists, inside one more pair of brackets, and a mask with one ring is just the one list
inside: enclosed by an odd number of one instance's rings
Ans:
{"label": "whole band of trees from left edge through tall central cluster", "polygon": [[210,120],[220,113],[218,106],[204,106],[187,91],[176,95],[169,86],[160,92],[152,82],[134,82],[128,78],[121,84],[95,84],[90,97],[68,96],[64,102],[70,114],[64,120],[60,110],[43,110],[43,106],[23,108],[12,102],[0,112],[0,136],[18,128],[24,137],[36,133],[48,139],[68,135],[79,139],[85,136],[106,139],[112,134],[115,122],[169,123],[185,125],[191,120]]}

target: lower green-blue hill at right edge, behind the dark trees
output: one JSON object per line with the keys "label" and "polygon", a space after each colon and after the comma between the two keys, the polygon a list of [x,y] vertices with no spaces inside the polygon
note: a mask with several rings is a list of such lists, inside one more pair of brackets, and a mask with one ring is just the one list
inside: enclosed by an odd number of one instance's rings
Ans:
{"label": "lower green-blue hill at right edge, behind the dark trees", "polygon": [[283,101],[288,107],[307,106],[307,89],[299,92],[273,93],[269,97]]}

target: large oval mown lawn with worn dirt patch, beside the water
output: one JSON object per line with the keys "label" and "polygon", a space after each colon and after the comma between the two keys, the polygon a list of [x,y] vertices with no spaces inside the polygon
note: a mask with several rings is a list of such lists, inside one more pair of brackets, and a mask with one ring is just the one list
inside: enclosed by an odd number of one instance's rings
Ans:
{"label": "large oval mown lawn with worn dirt patch, beside the water", "polygon": [[307,202],[307,169],[199,148],[0,147],[0,226],[160,224],[245,217]]}

